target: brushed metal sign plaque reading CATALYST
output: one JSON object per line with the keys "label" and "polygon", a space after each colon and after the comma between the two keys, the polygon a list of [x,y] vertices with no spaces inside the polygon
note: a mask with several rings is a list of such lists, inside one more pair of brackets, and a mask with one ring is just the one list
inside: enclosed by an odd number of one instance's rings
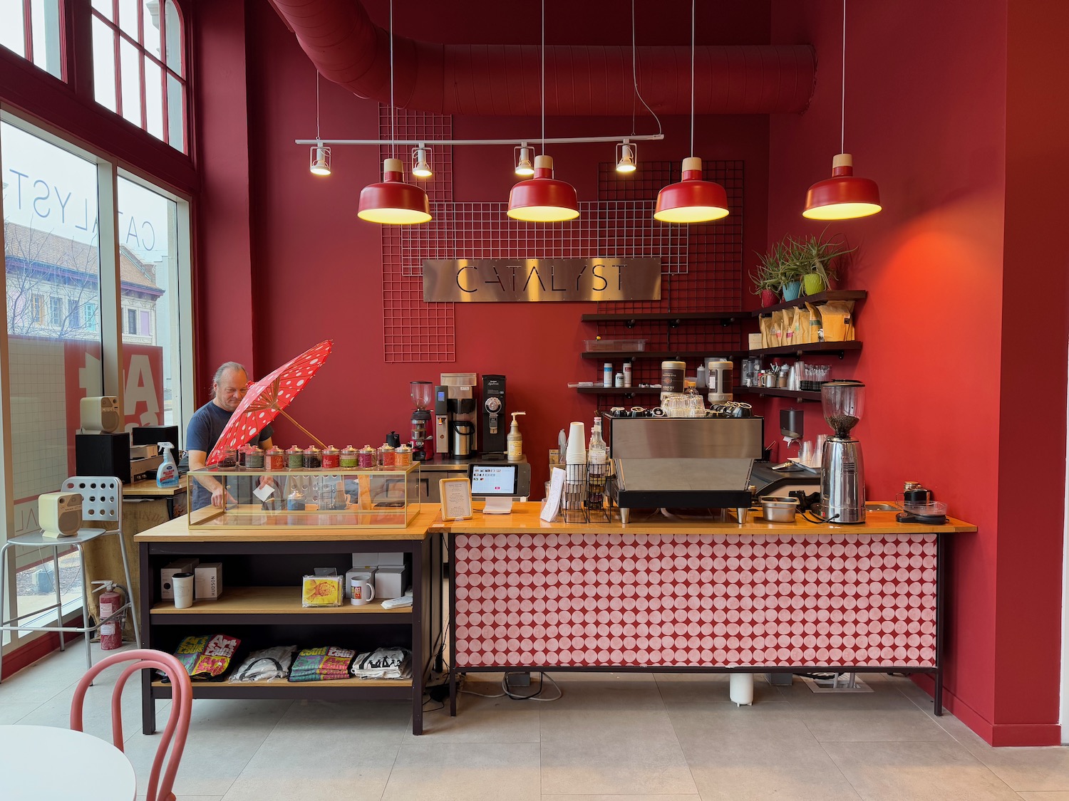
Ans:
{"label": "brushed metal sign plaque reading CATALYST", "polygon": [[660,299],[660,258],[423,261],[423,300],[428,303]]}

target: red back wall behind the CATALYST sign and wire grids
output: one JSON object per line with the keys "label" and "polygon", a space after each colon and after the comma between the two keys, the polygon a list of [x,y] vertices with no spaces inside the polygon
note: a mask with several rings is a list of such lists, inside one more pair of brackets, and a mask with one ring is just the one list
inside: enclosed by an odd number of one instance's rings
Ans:
{"label": "red back wall behind the CATALYST sign and wire grids", "polygon": [[[385,22],[385,3],[369,4],[374,19]],[[396,15],[400,35],[422,35],[429,31],[443,41],[487,38],[500,31],[499,6],[484,4],[472,10],[472,18],[496,19],[486,22],[480,33],[470,26],[450,20],[437,5],[406,9]],[[381,7],[379,7],[381,6]],[[537,6],[532,6],[537,7]],[[741,7],[741,6],[740,6]],[[419,13],[430,13],[430,21],[413,26]],[[522,11],[522,10],[521,10]],[[512,13],[512,12],[510,12]],[[315,70],[268,4],[249,4],[245,44],[241,32],[233,34],[229,48],[215,46],[212,58],[216,72],[228,54],[242,58],[248,50],[247,70],[235,65],[233,73],[247,81],[249,170],[251,208],[251,323],[249,303],[235,302],[241,296],[246,266],[239,256],[243,230],[239,207],[230,204],[230,193],[241,187],[241,163],[227,164],[226,154],[236,153],[241,143],[230,147],[226,122],[236,116],[235,99],[229,84],[213,97],[213,84],[203,85],[204,105],[223,110],[223,123],[205,130],[202,151],[205,159],[228,167],[224,176],[213,180],[215,194],[205,187],[205,203],[228,209],[226,218],[201,214],[201,235],[206,245],[201,280],[202,323],[199,324],[204,356],[199,364],[199,384],[211,380],[218,363],[248,358],[248,331],[252,337],[252,368],[258,375],[274,368],[303,349],[332,339],[335,349],[312,386],[294,403],[292,413],[317,437],[342,446],[365,442],[381,443],[385,435],[409,427],[408,382],[437,381],[443,372],[471,371],[479,374],[501,373],[508,379],[508,404],[523,409],[521,419],[524,449],[532,461],[534,486],[547,477],[546,452],[556,446],[557,431],[571,420],[592,420],[594,399],[567,388],[569,381],[591,379],[600,365],[583,360],[580,340],[592,337],[592,326],[579,317],[594,311],[592,303],[472,303],[455,307],[456,360],[445,363],[386,363],[383,356],[382,248],[381,229],[356,218],[360,188],[379,179],[377,147],[336,147],[335,174],[319,178],[308,172],[308,148],[293,143],[297,138],[314,136]],[[205,16],[204,14],[201,15]],[[648,16],[653,16],[648,14]],[[223,15],[218,14],[219,25]],[[537,18],[537,16],[534,17]],[[600,17],[599,17],[600,18]],[[656,23],[655,19],[645,20]],[[597,28],[571,20],[569,41],[585,41],[576,31]],[[677,20],[678,22],[678,20]],[[644,20],[640,18],[639,23]],[[552,26],[552,20],[549,22]],[[616,19],[623,41],[630,37],[630,22]],[[508,26],[505,26],[508,28]],[[678,27],[678,26],[677,26]],[[719,26],[707,26],[719,32]],[[229,30],[226,29],[226,30]],[[552,30],[552,28],[551,28]],[[642,35],[647,35],[647,30]],[[649,37],[664,37],[656,27]],[[725,28],[725,31],[728,29]],[[686,32],[671,33],[672,41],[685,40]],[[205,41],[219,36],[204,32]],[[510,29],[510,35],[517,35]],[[561,34],[566,35],[566,34]],[[768,22],[762,14],[749,18],[746,26],[730,28],[731,41],[768,41]],[[523,33],[526,41],[537,41],[537,27]],[[681,40],[682,41],[682,40]],[[712,42],[713,40],[709,40]],[[699,40],[700,42],[700,40]],[[219,43],[221,44],[221,43]],[[378,106],[361,100],[329,83],[321,83],[321,128],[323,136],[337,138],[376,138]],[[205,111],[203,115],[206,116]],[[685,117],[663,121],[664,142],[642,143],[644,159],[679,161],[688,155],[688,125]],[[539,131],[539,120],[500,120],[454,117],[455,138],[527,137]],[[549,136],[592,136],[631,130],[630,119],[551,119]],[[639,119],[640,131],[655,131],[652,120]],[[229,129],[233,138],[244,136],[241,126]],[[768,120],[763,116],[699,119],[696,152],[703,158],[744,159],[746,162],[746,215],[744,250],[763,247],[768,183]],[[557,175],[572,182],[579,199],[597,199],[598,162],[613,158],[611,144],[555,146],[553,155]],[[514,177],[511,173],[512,148],[455,147],[454,197],[458,202],[508,199]],[[231,175],[231,173],[233,173]],[[226,192],[226,193],[223,193]],[[220,200],[220,198],[222,200]],[[233,217],[233,225],[230,218]],[[211,240],[211,241],[210,241]],[[214,242],[214,244],[212,244]],[[217,254],[217,255],[213,255]],[[463,255],[463,254],[459,254]],[[531,253],[529,255],[541,255]],[[231,335],[232,334],[232,335]],[[276,441],[304,443],[304,435],[284,421],[277,425]],[[541,492],[537,493],[540,497]]]}

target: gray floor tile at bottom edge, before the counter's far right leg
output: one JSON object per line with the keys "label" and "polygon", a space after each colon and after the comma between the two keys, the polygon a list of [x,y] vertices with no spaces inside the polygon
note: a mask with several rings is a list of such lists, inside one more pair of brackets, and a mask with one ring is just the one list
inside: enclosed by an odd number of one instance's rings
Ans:
{"label": "gray floor tile at bottom edge, before the counter's far right leg", "polygon": [[987,801],[1019,796],[958,742],[826,742],[862,798]]}

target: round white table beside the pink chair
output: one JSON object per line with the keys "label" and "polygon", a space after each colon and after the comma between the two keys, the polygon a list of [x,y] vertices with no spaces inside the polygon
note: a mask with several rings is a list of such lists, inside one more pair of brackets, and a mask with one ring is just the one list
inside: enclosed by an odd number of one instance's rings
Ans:
{"label": "round white table beside the pink chair", "polygon": [[0,725],[4,801],[115,801],[137,798],[126,755],[107,740],[53,726]]}

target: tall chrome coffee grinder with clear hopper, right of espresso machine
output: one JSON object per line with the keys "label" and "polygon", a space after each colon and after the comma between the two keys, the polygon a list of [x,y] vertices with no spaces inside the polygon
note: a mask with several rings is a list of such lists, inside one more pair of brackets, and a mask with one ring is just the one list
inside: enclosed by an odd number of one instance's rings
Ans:
{"label": "tall chrome coffee grinder with clear hopper, right of espresso machine", "polygon": [[865,462],[862,443],[850,436],[865,411],[865,384],[828,381],[820,388],[824,420],[835,431],[824,440],[820,505],[835,523],[865,522]]}

